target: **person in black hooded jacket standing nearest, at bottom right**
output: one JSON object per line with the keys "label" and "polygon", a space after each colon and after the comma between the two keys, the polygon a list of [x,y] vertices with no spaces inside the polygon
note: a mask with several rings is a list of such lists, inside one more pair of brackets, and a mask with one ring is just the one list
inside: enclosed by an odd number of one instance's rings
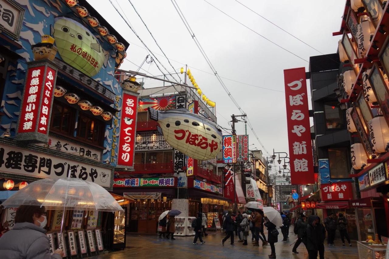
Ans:
{"label": "person in black hooded jacket standing nearest, at bottom right", "polygon": [[308,217],[307,229],[303,233],[303,242],[307,247],[309,259],[316,259],[317,252],[319,258],[324,259],[324,239],[326,238],[326,229],[320,223],[320,218],[316,215]]}

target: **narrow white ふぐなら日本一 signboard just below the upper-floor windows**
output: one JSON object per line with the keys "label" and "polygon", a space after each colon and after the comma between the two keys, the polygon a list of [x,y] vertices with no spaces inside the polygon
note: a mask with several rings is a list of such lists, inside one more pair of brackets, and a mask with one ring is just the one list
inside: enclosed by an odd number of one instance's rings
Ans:
{"label": "narrow white \u3075\u3050\u306a\u3089\u65e5\u672c\u4e00 signboard just below the upper-floor windows", "polygon": [[[91,149],[79,143],[73,143],[67,140],[59,139],[53,136],[49,136],[49,140],[46,143],[49,147],[61,148],[61,152],[73,154],[75,156],[81,156],[84,158],[90,158],[94,160],[101,160],[101,151],[97,149]],[[39,143],[43,147],[43,143]]]}

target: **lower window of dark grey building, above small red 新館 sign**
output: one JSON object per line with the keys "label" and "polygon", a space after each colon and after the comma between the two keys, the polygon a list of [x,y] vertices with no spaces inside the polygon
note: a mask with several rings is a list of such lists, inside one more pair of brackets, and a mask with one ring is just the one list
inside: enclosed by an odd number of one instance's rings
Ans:
{"label": "lower window of dark grey building, above small red \u65b0\u9928 sign", "polygon": [[328,149],[331,178],[349,178],[350,158],[347,147]]}

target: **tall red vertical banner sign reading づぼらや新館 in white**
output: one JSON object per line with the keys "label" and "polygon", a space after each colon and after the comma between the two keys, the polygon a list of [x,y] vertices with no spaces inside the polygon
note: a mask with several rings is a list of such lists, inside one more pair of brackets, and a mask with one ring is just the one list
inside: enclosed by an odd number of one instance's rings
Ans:
{"label": "tall red vertical banner sign reading \u3065\u307c\u3089\u3084\u65b0\u9928 in white", "polygon": [[292,184],[314,184],[305,68],[284,70]]}

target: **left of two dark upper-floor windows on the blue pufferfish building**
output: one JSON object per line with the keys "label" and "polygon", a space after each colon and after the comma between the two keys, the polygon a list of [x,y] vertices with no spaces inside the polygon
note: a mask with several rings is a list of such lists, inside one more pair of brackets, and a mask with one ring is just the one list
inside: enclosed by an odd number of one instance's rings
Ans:
{"label": "left of two dark upper-floor windows on the blue pufferfish building", "polygon": [[73,136],[76,110],[60,102],[53,103],[50,129]]}

